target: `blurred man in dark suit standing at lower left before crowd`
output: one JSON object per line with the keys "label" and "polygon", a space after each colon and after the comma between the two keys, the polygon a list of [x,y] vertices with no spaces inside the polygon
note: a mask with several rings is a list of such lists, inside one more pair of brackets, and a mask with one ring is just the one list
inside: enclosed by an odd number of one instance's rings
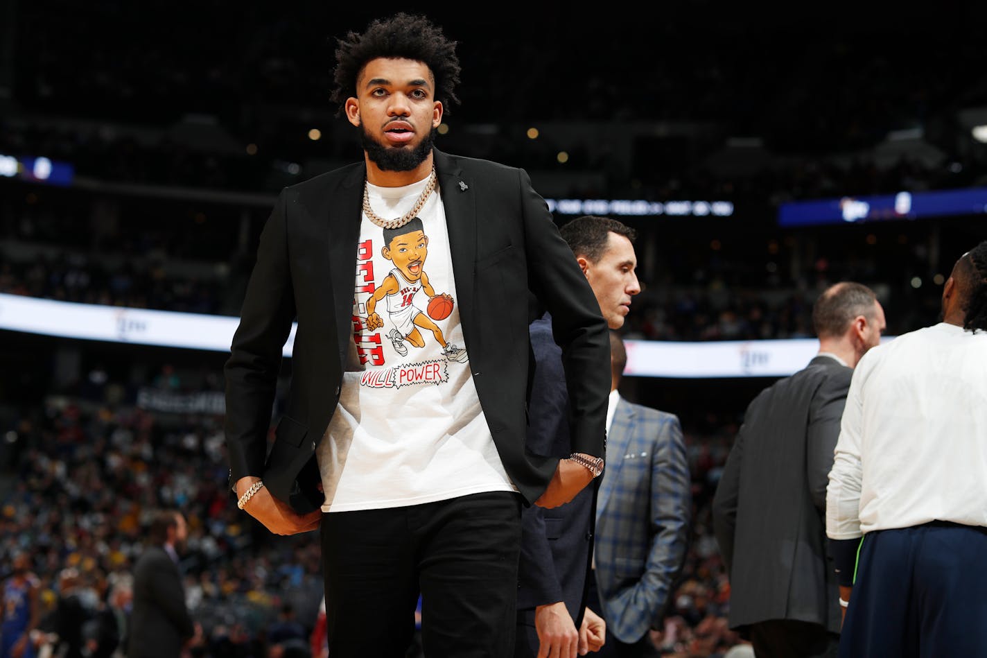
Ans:
{"label": "blurred man in dark suit standing at lower left before crowd", "polygon": [[181,512],[161,511],[151,521],[148,546],[133,565],[127,658],[178,658],[201,637],[186,607],[179,570],[187,536]]}

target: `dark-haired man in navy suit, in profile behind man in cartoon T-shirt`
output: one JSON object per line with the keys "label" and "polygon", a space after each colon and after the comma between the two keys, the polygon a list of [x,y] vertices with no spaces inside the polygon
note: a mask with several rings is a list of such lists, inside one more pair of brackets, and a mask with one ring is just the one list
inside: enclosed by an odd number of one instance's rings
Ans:
{"label": "dark-haired man in navy suit, in profile behind man in cartoon T-shirt", "polygon": [[[593,215],[572,219],[561,232],[607,325],[621,328],[631,298],[641,291],[634,251],[637,232],[616,219]],[[558,344],[560,327],[558,316],[551,310],[531,324],[537,367],[527,445],[535,454],[564,457],[571,452],[571,428],[566,418],[574,400],[564,385],[566,366],[565,352]],[[606,382],[609,390],[609,334],[607,345],[607,368],[587,376]],[[598,649],[603,640],[602,618],[598,611],[586,609],[598,482],[594,480],[566,505],[524,510],[516,658],[568,658],[578,650]]]}

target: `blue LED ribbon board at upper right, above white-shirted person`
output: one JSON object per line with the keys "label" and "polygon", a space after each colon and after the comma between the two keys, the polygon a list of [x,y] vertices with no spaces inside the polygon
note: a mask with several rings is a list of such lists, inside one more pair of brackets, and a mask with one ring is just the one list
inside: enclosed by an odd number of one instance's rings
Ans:
{"label": "blue LED ribbon board at upper right, above white-shirted person", "polygon": [[984,213],[987,213],[987,188],[967,188],[791,202],[778,206],[778,225],[812,226]]}

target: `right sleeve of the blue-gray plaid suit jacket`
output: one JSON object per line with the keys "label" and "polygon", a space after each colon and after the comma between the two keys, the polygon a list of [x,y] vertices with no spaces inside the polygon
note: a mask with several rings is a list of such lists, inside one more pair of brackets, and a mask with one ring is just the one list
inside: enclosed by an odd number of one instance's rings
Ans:
{"label": "right sleeve of the blue-gray plaid suit jacket", "polygon": [[637,589],[647,599],[651,627],[660,622],[685,563],[692,521],[692,479],[682,438],[673,414],[650,412],[654,432],[651,451],[651,546],[645,574]]}

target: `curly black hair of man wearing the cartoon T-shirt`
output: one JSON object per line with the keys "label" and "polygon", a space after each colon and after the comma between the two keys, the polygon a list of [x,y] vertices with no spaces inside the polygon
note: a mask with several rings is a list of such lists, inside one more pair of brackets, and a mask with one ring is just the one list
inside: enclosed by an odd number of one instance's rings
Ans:
{"label": "curly black hair of man wearing the cartoon T-shirt", "polygon": [[450,41],[442,29],[424,16],[399,12],[385,19],[374,19],[361,33],[348,32],[338,40],[336,69],[331,100],[345,110],[346,99],[356,95],[356,80],[371,59],[400,57],[423,62],[435,77],[435,100],[449,106],[459,104],[456,85],[459,84],[457,41]]}

